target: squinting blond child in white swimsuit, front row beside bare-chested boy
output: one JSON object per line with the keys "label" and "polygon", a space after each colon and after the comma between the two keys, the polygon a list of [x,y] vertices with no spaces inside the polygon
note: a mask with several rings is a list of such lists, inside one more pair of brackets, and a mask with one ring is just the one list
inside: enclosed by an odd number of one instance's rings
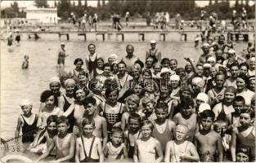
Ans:
{"label": "squinting blond child in white swimsuit, front row beside bare-chested boy", "polygon": [[199,161],[195,145],[186,140],[188,134],[186,125],[178,125],[175,130],[175,139],[166,145],[165,162],[190,162]]}

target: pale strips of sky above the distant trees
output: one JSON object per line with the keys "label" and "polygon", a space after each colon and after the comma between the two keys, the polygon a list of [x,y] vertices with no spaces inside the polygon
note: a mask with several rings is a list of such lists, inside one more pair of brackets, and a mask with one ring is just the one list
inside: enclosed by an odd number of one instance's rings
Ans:
{"label": "pale strips of sky above the distant trees", "polygon": [[[219,1],[222,1],[222,0],[219,0]],[[226,0],[223,0],[223,1],[226,1]],[[2,0],[1,1],[1,7],[10,7],[11,5],[11,2],[15,2],[15,1],[7,1],[7,0]],[[18,2],[19,4],[19,7],[29,7],[31,5],[34,5],[34,1],[22,1],[22,0],[16,0],[16,2]],[[78,2],[78,1],[74,1],[74,2]],[[213,1],[214,2],[214,1]],[[245,1],[244,1],[245,2]],[[199,6],[199,7],[204,7],[206,5],[209,4],[209,1],[195,1],[196,5]],[[231,5],[234,5],[235,1],[231,1]],[[53,6],[54,5],[54,1],[48,1],[48,4],[50,6]],[[82,4],[83,4],[83,1],[82,1]],[[254,1],[249,1],[249,5],[252,5],[254,4]],[[88,5],[89,6],[92,6],[92,7],[97,7],[97,1],[94,0],[94,1],[88,1]]]}

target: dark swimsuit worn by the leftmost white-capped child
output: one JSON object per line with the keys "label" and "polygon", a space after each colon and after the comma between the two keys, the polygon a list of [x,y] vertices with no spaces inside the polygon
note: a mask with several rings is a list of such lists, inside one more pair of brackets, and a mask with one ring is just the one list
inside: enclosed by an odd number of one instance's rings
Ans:
{"label": "dark swimsuit worn by the leftmost white-capped child", "polygon": [[38,130],[37,123],[38,123],[38,116],[35,115],[34,122],[32,125],[29,125],[26,121],[25,118],[20,115],[24,121],[24,124],[21,128],[22,130],[22,143],[27,143],[27,142],[33,142],[34,141],[34,134],[36,134],[36,131]]}

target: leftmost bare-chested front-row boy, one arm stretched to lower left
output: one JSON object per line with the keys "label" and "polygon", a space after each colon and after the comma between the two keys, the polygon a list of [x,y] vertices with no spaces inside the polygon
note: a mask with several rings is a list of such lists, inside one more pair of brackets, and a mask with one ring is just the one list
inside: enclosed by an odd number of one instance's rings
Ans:
{"label": "leftmost bare-chested front-row boy, one arm stretched to lower left", "polygon": [[52,144],[47,149],[47,152],[43,153],[37,161],[49,156],[54,147],[56,147],[56,162],[70,161],[74,157],[75,138],[73,134],[68,133],[69,120],[61,116],[57,118],[56,122],[58,134],[53,137]]}

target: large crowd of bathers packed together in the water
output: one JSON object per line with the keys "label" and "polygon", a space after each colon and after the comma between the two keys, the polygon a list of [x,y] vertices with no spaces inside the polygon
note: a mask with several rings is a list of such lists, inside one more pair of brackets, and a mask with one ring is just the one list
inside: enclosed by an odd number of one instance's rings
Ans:
{"label": "large crowd of bathers packed together in the water", "polygon": [[254,46],[237,55],[223,36],[209,39],[185,68],[161,59],[155,41],[145,63],[128,45],[104,64],[88,45],[86,68],[75,59],[74,71],[53,77],[38,115],[20,104],[16,137],[21,129],[37,161],[255,161]]}

